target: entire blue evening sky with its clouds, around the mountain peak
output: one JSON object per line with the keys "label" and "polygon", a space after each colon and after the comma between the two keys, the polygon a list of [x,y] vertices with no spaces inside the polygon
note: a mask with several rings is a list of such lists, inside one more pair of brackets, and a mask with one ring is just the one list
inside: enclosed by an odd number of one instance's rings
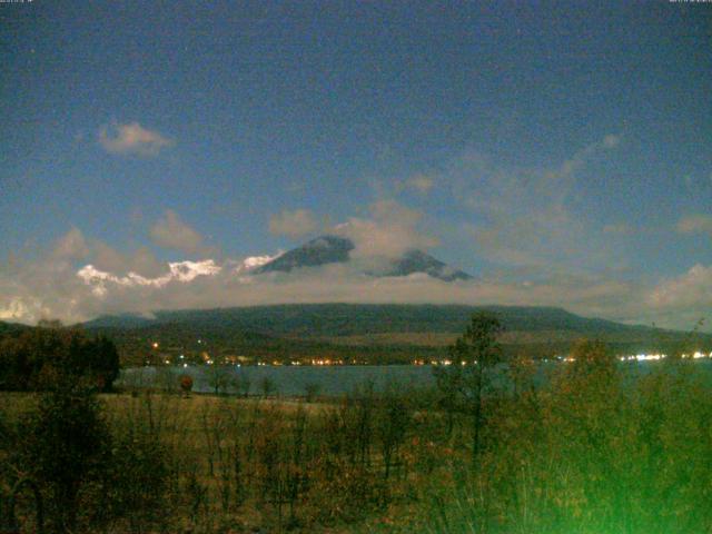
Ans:
{"label": "entire blue evening sky with its clouds, around the mountain peak", "polygon": [[[453,301],[691,329],[711,72],[712,3],[0,3],[0,320]],[[339,228],[475,278],[240,275]]]}

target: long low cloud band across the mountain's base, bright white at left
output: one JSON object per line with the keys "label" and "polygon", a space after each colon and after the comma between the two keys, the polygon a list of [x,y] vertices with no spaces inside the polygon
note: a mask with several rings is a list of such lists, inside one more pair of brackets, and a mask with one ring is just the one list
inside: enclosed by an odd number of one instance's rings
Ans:
{"label": "long low cloud band across the mountain's base, bright white at left", "polygon": [[[384,208],[374,206],[373,215],[384,216]],[[417,219],[417,212],[403,210],[395,226],[384,226],[383,220],[350,219],[343,228],[353,236],[359,231],[383,234],[376,241],[380,246],[374,250],[385,254],[397,250],[395,241],[385,236],[387,228],[405,236],[407,243],[417,243],[418,237],[406,231],[413,230]],[[661,326],[688,328],[712,304],[712,266],[703,265],[652,286],[572,274],[526,281],[484,277],[445,283],[423,274],[375,278],[364,275],[357,261],[290,274],[251,274],[273,257],[162,263],[146,249],[120,253],[72,228],[34,260],[16,259],[0,269],[0,319],[34,323],[57,317],[75,323],[102,314],[158,309],[433,303],[563,306],[586,316],[633,323],[655,320]],[[116,270],[105,270],[109,268]]]}

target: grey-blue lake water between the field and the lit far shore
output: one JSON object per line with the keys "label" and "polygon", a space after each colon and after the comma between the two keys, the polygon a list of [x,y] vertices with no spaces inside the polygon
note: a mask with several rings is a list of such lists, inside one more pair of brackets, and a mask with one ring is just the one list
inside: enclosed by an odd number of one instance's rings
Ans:
{"label": "grey-blue lake water between the field and the lit far shore", "polygon": [[[537,373],[537,382],[546,380],[550,372],[556,366],[570,365],[565,363],[542,363]],[[629,362],[622,363],[624,374],[636,377],[664,365],[663,362]],[[712,380],[712,360],[701,359],[692,363],[695,370],[704,373]],[[503,375],[504,368],[498,369]],[[304,395],[308,386],[315,385],[320,395],[342,395],[353,392],[356,387],[373,383],[376,389],[386,385],[406,387],[427,387],[435,384],[433,368],[429,365],[358,365],[358,366],[248,366],[218,367],[189,366],[187,368],[166,367],[135,367],[123,369],[118,385],[134,385],[138,387],[176,387],[180,375],[190,375],[194,379],[194,392],[210,393],[214,390],[215,374],[219,373],[226,384],[227,393],[238,393],[239,383],[249,382],[249,392],[259,394],[265,378],[274,385],[274,393],[279,395]]]}

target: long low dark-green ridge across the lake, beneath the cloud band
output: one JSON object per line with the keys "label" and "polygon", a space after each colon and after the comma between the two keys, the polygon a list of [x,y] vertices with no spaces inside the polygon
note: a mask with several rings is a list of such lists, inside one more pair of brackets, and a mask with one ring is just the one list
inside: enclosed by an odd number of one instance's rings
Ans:
{"label": "long low dark-green ridge across the lake, beneath the cloud band", "polygon": [[[568,354],[581,338],[601,339],[613,353],[627,355],[691,345],[683,332],[537,306],[285,304],[164,310],[155,312],[152,318],[105,316],[82,326],[113,339],[129,365],[142,365],[151,354],[166,359],[210,354],[253,363],[336,358],[379,365],[446,356],[446,346],[462,335],[472,314],[483,310],[500,316],[506,357]],[[155,342],[160,345],[158,352],[151,348]],[[712,349],[712,335],[696,335],[694,342],[695,350]]]}

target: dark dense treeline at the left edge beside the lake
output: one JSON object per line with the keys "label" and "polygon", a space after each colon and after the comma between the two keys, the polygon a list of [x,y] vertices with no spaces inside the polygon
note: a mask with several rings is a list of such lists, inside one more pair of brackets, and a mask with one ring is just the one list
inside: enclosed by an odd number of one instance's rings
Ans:
{"label": "dark dense treeline at the left edge beside the lake", "polygon": [[47,389],[65,375],[110,390],[119,375],[116,346],[105,336],[48,322],[0,338],[0,390]]}

